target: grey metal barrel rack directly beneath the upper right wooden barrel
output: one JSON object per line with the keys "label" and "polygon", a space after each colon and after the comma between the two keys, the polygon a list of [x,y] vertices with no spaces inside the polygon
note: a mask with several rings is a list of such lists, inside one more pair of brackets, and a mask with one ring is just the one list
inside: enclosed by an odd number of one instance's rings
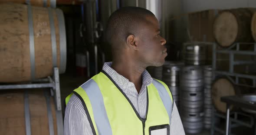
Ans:
{"label": "grey metal barrel rack directly beneath the upper right wooden barrel", "polygon": [[[249,51],[243,51],[240,50],[240,45],[241,44],[247,44],[247,45],[253,45],[253,50]],[[234,66],[235,65],[243,65],[243,64],[256,64],[255,61],[235,61],[234,56],[235,55],[251,55],[251,56],[256,56],[256,43],[234,43],[231,45],[229,48],[222,49],[222,50],[217,50],[217,44],[212,43],[213,45],[213,61],[212,61],[212,66],[213,66],[213,78],[217,75],[225,75],[229,77],[229,79],[233,82],[233,84],[240,85],[240,86],[246,86],[246,87],[256,87],[256,76],[255,75],[250,75],[250,74],[240,74],[240,73],[234,73]],[[229,55],[229,71],[217,71],[216,70],[216,57],[217,53],[224,53]],[[251,85],[249,84],[242,84],[239,82],[240,78],[246,78],[251,80],[253,83]]]}

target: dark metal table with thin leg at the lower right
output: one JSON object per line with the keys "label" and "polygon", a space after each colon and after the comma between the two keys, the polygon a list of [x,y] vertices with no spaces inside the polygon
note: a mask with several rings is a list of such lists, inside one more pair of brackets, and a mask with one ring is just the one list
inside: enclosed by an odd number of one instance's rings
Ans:
{"label": "dark metal table with thin leg at the lower right", "polygon": [[[226,135],[229,133],[229,119],[230,119],[230,106],[243,107],[246,109],[252,109],[256,111],[256,105],[251,104],[245,100],[242,100],[240,96],[223,96],[220,98],[222,102],[226,103]],[[256,132],[255,132],[256,135]]]}

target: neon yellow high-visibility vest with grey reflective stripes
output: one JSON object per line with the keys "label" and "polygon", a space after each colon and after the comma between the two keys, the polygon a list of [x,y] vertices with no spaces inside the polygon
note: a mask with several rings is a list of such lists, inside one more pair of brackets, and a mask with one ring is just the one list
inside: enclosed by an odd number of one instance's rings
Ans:
{"label": "neon yellow high-visibility vest with grey reflective stripes", "polygon": [[[95,75],[74,93],[84,103],[94,135],[143,135],[138,112],[108,74]],[[153,79],[147,87],[147,96],[144,135],[149,135],[151,126],[170,124],[173,107],[169,88],[159,80]],[[66,98],[66,103],[70,97]]]}

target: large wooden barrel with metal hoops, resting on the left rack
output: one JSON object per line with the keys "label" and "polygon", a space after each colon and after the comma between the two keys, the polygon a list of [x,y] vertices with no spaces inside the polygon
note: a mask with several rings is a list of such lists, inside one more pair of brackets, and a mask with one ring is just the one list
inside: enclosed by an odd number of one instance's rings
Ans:
{"label": "large wooden barrel with metal hoops, resting on the left rack", "polygon": [[0,82],[47,77],[66,70],[66,31],[61,10],[0,5]]}

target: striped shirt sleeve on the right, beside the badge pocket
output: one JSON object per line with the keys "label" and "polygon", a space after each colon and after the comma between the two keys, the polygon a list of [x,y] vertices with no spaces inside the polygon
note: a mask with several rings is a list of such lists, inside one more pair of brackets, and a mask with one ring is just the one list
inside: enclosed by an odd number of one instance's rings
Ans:
{"label": "striped shirt sleeve on the right, beside the badge pocket", "polygon": [[175,102],[173,104],[173,110],[171,114],[170,132],[170,135],[185,135],[184,128],[181,122],[181,117]]}

